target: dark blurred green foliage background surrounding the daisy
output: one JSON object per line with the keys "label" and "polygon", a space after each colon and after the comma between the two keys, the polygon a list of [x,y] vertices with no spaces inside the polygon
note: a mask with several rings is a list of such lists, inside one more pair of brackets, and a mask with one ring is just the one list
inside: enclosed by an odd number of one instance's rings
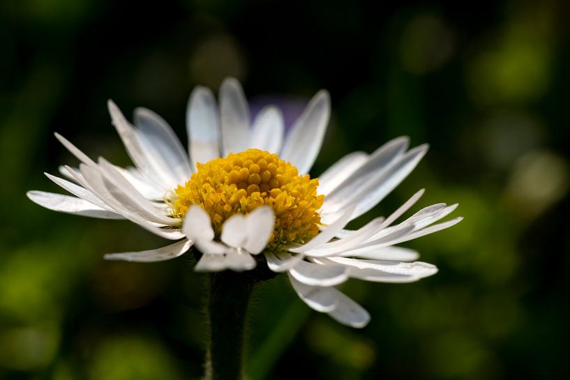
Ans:
{"label": "dark blurred green foliage background surrounding the daisy", "polygon": [[0,3],[0,378],[199,379],[202,275],[193,259],[105,262],[159,246],[127,222],[29,202],[43,171],[128,164],[105,102],[149,107],[185,139],[195,84],[333,100],[314,175],[398,135],[430,153],[385,202],[458,202],[465,220],[408,246],[440,267],[344,290],[363,330],[310,311],[284,278],[256,294],[249,373],[262,379],[569,379],[570,7],[563,0]]}

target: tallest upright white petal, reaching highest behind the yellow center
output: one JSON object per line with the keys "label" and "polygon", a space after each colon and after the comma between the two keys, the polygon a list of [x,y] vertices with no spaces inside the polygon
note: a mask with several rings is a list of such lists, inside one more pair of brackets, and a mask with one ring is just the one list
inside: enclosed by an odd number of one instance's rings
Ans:
{"label": "tallest upright white petal, reaching highest behind the yellow center", "polygon": [[245,151],[249,141],[249,105],[241,84],[227,78],[220,86],[223,155]]}

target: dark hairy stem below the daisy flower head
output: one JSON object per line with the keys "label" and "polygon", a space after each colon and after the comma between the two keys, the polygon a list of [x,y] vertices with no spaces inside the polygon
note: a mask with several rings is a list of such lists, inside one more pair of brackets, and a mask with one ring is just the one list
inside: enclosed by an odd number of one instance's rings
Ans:
{"label": "dark hairy stem below the daisy flower head", "polygon": [[225,271],[209,275],[210,342],[205,380],[243,380],[246,314],[255,280]]}

